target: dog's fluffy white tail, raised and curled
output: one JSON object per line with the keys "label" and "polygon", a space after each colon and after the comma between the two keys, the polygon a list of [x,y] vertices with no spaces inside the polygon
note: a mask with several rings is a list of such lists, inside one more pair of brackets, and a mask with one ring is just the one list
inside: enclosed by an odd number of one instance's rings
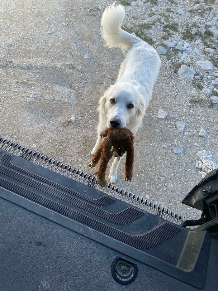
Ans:
{"label": "dog's fluffy white tail, raised and curled", "polygon": [[101,33],[109,48],[120,47],[125,54],[128,47],[143,40],[121,28],[124,17],[125,8],[119,2],[108,6],[102,14]]}

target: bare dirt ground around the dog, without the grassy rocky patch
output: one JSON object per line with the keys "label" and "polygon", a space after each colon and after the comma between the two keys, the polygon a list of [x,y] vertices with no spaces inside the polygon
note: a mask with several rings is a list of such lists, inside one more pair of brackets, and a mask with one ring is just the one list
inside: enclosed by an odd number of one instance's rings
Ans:
{"label": "bare dirt ground around the dog, without the grassy rocky patch", "polygon": [[[87,165],[97,137],[97,102],[115,82],[124,58],[119,49],[103,46],[100,36],[100,17],[108,4],[1,1],[0,134],[86,172],[91,172]],[[137,18],[147,12],[133,13]],[[217,111],[191,107],[186,92],[193,90],[162,57],[153,99],[135,138],[133,182],[124,182],[123,161],[116,183],[188,218],[199,216],[180,203],[201,179],[197,152],[210,150],[218,160]],[[158,119],[160,108],[174,118]],[[189,136],[177,132],[178,120],[187,124]],[[208,132],[205,139],[197,136],[202,127]],[[173,153],[171,145],[182,145],[184,152]]]}

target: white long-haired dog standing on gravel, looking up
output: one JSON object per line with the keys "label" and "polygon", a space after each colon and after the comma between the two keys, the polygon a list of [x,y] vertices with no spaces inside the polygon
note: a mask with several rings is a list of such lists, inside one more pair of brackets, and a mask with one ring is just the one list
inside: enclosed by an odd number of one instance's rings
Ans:
{"label": "white long-haired dog standing on gravel, looking up", "polygon": [[[161,66],[160,58],[152,46],[121,29],[124,17],[125,9],[117,2],[102,14],[102,37],[106,45],[110,48],[120,47],[124,54],[128,48],[130,50],[121,64],[116,83],[99,100],[98,138],[92,154],[102,142],[100,133],[107,127],[127,127],[135,135],[149,105]],[[115,158],[112,163],[109,175],[111,183],[116,182],[120,161]]]}

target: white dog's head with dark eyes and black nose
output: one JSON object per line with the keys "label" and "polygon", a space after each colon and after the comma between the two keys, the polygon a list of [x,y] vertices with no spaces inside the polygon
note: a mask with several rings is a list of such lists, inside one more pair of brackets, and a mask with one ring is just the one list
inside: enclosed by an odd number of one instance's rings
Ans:
{"label": "white dog's head with dark eyes and black nose", "polygon": [[99,112],[107,119],[109,128],[129,128],[138,124],[145,113],[142,96],[134,86],[112,85],[99,100]]}

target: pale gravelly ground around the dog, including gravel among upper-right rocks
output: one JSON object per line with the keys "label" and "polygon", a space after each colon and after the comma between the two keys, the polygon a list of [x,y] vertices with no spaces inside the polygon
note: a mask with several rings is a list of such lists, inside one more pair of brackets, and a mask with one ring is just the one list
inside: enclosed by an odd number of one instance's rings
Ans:
{"label": "pale gravelly ground around the dog, including gravel among upper-right rocks", "polygon": [[[111,2],[0,3],[0,133],[90,171],[97,102],[115,82],[124,58],[119,49],[103,46],[100,36],[102,10]],[[217,104],[201,91],[207,87],[217,96],[217,2],[125,0],[124,4],[125,28],[166,51],[162,49],[153,99],[135,137],[133,182],[124,182],[123,161],[117,185],[141,196],[148,194],[187,218],[197,218],[198,211],[180,202],[201,179],[197,152],[211,151],[218,161]],[[169,41],[184,48],[170,47]],[[209,60],[213,70],[203,70],[197,64],[202,60]],[[177,73],[182,64],[194,69],[201,80],[182,79]],[[168,112],[166,118],[157,117],[159,109]],[[186,124],[183,134],[177,132],[179,120]],[[201,128],[206,138],[198,136]],[[173,153],[173,145],[184,151]]]}

